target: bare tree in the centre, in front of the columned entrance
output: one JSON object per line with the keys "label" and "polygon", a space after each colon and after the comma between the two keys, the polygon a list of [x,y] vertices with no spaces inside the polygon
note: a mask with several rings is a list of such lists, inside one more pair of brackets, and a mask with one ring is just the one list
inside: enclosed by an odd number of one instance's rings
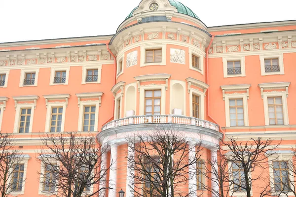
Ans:
{"label": "bare tree in the centre, in front of the columned entrance", "polygon": [[157,125],[150,132],[128,137],[127,141],[133,152],[127,160],[133,180],[129,186],[135,197],[186,197],[192,194],[193,188],[185,194],[178,187],[196,174],[200,143],[188,142],[184,133],[176,131],[171,124]]}

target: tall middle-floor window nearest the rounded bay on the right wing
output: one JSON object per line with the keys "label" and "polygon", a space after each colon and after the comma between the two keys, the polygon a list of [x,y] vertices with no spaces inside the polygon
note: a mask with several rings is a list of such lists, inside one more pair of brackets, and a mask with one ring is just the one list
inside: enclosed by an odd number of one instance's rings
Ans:
{"label": "tall middle-floor window nearest the rounded bay on the right wing", "polygon": [[230,126],[244,126],[243,99],[229,99]]}

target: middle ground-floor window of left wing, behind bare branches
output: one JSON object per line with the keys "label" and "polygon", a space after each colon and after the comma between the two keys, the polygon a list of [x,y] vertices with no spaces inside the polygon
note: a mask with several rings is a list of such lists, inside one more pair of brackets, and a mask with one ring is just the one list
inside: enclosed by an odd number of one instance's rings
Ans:
{"label": "middle ground-floor window of left wing, behind bare branches", "polygon": [[54,192],[55,191],[55,182],[56,177],[54,174],[55,165],[45,165],[44,169],[44,182],[43,182],[43,191],[44,192]]}

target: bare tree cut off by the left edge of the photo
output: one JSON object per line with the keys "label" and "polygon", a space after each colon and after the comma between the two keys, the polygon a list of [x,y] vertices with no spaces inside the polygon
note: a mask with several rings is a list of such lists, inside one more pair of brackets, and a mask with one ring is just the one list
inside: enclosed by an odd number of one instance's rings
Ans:
{"label": "bare tree cut off by the left edge of the photo", "polygon": [[9,134],[0,133],[0,194],[8,197],[14,191],[21,191],[25,181],[23,156],[18,149],[13,149],[13,139]]}

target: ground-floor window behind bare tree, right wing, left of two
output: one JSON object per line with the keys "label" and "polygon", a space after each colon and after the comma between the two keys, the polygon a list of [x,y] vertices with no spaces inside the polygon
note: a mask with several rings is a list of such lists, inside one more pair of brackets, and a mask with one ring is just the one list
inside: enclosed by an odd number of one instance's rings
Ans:
{"label": "ground-floor window behind bare tree, right wing, left of two", "polygon": [[244,170],[240,162],[232,163],[233,192],[245,191],[246,181]]}

